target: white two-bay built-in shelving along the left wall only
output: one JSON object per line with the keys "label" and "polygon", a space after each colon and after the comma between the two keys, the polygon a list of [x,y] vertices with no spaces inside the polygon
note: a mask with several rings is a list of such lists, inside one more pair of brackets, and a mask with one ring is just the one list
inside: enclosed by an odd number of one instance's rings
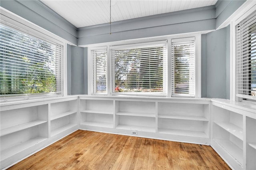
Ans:
{"label": "white two-bay built-in shelving along the left wall only", "polygon": [[78,97],[1,103],[1,169],[78,129]]}

